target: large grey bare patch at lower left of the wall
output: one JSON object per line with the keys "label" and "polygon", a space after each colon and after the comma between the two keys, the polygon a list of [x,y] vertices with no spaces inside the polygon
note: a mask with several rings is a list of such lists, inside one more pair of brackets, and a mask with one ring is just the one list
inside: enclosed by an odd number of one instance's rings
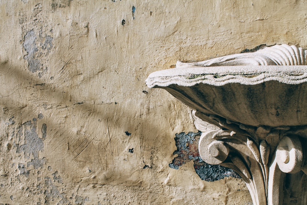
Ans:
{"label": "large grey bare patch at lower left of the wall", "polygon": [[27,167],[33,165],[35,169],[42,168],[44,164],[46,164],[46,159],[40,159],[39,158],[39,152],[43,151],[44,149],[44,140],[47,135],[47,125],[43,124],[41,127],[42,132],[42,138],[40,138],[37,134],[37,119],[33,118],[33,122],[28,121],[24,124],[21,124],[17,128],[17,138],[21,140],[24,137],[25,144],[17,146],[17,153],[24,152],[26,158],[30,158],[30,155],[33,155],[34,159],[31,159],[30,162],[28,162]]}

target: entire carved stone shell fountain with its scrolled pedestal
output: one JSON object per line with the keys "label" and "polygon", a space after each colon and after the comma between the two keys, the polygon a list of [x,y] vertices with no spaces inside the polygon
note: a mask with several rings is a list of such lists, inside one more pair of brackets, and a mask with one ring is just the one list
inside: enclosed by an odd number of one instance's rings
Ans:
{"label": "entire carved stone shell fountain with its scrolled pedestal", "polygon": [[307,204],[306,55],[284,44],[178,61],[146,84],[192,108],[201,158],[235,170],[255,205]]}

